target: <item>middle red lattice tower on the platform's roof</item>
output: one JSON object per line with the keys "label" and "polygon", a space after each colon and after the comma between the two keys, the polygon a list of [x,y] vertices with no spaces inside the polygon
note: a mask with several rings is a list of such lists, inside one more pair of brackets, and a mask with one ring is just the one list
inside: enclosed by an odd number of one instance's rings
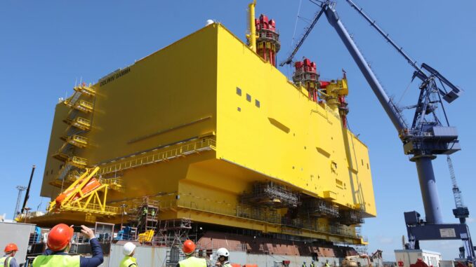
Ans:
{"label": "middle red lattice tower on the platform's roof", "polygon": [[317,90],[321,85],[316,63],[305,58],[303,61],[294,63],[294,67],[293,83],[303,85],[309,92],[310,100],[317,102]]}

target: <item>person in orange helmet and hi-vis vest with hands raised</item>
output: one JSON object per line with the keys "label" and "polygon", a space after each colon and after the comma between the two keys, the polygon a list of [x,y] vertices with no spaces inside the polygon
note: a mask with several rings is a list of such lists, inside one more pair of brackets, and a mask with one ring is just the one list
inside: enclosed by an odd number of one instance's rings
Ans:
{"label": "person in orange helmet and hi-vis vest with hands raised", "polygon": [[70,256],[73,228],[66,224],[57,224],[48,233],[46,245],[48,249],[42,255],[33,260],[33,267],[55,267],[55,266],[79,266],[97,267],[103,263],[103,249],[99,241],[95,238],[93,230],[81,225],[81,233],[89,239],[93,256],[85,258],[83,256]]}

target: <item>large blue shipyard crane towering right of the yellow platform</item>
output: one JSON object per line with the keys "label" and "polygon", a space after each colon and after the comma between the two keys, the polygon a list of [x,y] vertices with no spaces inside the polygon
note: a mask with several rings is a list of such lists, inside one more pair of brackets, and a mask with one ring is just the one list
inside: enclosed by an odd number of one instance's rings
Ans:
{"label": "large blue shipyard crane towering right of the yellow platform", "polygon": [[[458,133],[456,128],[449,125],[449,121],[444,111],[443,101],[453,102],[463,91],[457,88],[453,83],[444,78],[438,71],[430,67],[428,64],[418,66],[415,60],[406,54],[401,46],[393,41],[389,34],[376,25],[362,8],[359,8],[352,0],[346,0],[352,8],[355,8],[362,17],[370,22],[371,26],[377,30],[390,45],[402,55],[407,62],[415,69],[412,76],[421,80],[419,85],[419,97],[417,104],[411,106],[415,109],[413,121],[406,123],[402,109],[388,97],[383,90],[381,83],[376,78],[373,70],[364,59],[354,40],[345,29],[341,18],[336,12],[336,3],[327,1],[319,1],[321,10],[315,16],[315,20],[310,27],[306,29],[303,38],[297,43],[289,57],[282,64],[290,64],[292,58],[296,55],[297,50],[303,43],[312,27],[319,20],[320,13],[326,15],[331,26],[336,30],[338,36],[343,41],[350,55],[357,63],[360,71],[369,83],[373,93],[378,98],[381,106],[389,116],[392,124],[395,126],[399,138],[402,140],[404,153],[411,156],[410,160],[416,163],[418,179],[420,182],[421,195],[423,198],[423,206],[425,208],[425,220],[421,219],[421,215],[416,212],[404,212],[406,230],[409,237],[409,248],[419,249],[419,241],[421,240],[451,240],[461,239],[468,248],[468,261],[475,261],[475,252],[472,247],[469,228],[466,224],[443,224],[441,207],[439,205],[439,197],[435,182],[435,174],[433,172],[432,160],[436,155],[449,155],[461,150],[458,141]],[[444,114],[444,123],[437,116],[437,108],[441,107]]]}

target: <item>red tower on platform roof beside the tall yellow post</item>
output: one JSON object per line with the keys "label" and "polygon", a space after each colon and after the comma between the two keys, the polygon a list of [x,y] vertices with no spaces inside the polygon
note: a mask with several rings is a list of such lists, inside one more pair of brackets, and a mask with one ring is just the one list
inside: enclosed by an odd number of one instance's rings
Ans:
{"label": "red tower on platform roof beside the tall yellow post", "polygon": [[276,53],[281,48],[279,34],[276,32],[275,20],[268,20],[267,15],[260,15],[255,20],[256,53],[276,67]]}

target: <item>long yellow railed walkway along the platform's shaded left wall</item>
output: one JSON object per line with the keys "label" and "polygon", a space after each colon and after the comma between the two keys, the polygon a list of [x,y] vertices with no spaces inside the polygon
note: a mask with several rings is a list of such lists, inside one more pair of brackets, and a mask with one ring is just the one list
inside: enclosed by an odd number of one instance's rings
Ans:
{"label": "long yellow railed walkway along the platform's shaded left wall", "polygon": [[182,146],[178,146],[174,149],[168,149],[165,151],[154,151],[152,154],[147,156],[131,156],[122,160],[120,163],[115,163],[114,165],[107,165],[106,163],[106,166],[100,167],[98,174],[107,174],[151,163],[159,163],[164,160],[171,160],[172,158],[178,158],[179,156],[185,156],[191,153],[214,150],[215,148],[216,141],[214,139],[201,139],[189,144],[183,144]]}

